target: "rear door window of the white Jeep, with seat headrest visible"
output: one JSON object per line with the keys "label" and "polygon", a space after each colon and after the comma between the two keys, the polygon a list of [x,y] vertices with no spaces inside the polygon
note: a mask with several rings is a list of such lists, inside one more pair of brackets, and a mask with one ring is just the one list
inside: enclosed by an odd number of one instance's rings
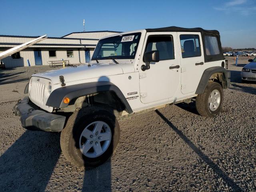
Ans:
{"label": "rear door window of the white Jeep, with seat headrest visible", "polygon": [[182,58],[201,56],[199,35],[180,35]]}

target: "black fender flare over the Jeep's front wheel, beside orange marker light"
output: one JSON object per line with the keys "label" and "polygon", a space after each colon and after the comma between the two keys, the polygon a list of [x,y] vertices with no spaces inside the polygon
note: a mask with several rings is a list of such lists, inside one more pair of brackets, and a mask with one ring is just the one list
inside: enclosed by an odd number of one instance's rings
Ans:
{"label": "black fender flare over the Jeep's front wheel, beside orange marker light", "polygon": [[71,101],[72,99],[81,96],[86,96],[103,91],[115,92],[118,98],[120,98],[120,100],[124,104],[126,111],[128,113],[133,112],[121,90],[116,85],[108,81],[89,82],[57,88],[50,94],[46,105],[55,108],[64,108],[68,106],[68,104],[65,104],[63,102],[63,99],[65,97],[68,97]]}

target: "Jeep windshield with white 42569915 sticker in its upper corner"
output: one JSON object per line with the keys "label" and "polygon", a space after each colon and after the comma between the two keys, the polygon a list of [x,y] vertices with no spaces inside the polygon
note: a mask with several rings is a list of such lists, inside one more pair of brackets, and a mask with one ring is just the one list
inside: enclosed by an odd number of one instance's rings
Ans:
{"label": "Jeep windshield with white 42569915 sticker in its upper corner", "polygon": [[141,33],[130,33],[102,39],[98,42],[92,60],[134,59]]}

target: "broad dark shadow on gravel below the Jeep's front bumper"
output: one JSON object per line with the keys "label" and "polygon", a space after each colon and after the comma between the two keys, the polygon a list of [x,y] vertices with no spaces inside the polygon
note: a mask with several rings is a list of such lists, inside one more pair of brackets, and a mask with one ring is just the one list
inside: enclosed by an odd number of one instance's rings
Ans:
{"label": "broad dark shadow on gravel below the Jeep's front bumper", "polygon": [[60,156],[60,134],[26,131],[0,156],[2,191],[45,191]]}

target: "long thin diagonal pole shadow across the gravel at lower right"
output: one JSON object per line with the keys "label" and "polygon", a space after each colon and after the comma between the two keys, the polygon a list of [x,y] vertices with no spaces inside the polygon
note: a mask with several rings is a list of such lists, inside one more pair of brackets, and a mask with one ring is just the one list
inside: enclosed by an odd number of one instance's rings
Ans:
{"label": "long thin diagonal pole shadow across the gravel at lower right", "polygon": [[184,140],[184,142],[206,163],[208,164],[212,170],[218,175],[219,178],[222,178],[226,184],[233,190],[233,191],[243,191],[235,182],[232,180],[228,175],[226,175],[217,164],[215,164],[208,156],[206,156],[188,137],[186,137],[178,128],[176,128],[161,112],[158,110],[155,111],[156,114],[164,120],[172,130]]}

